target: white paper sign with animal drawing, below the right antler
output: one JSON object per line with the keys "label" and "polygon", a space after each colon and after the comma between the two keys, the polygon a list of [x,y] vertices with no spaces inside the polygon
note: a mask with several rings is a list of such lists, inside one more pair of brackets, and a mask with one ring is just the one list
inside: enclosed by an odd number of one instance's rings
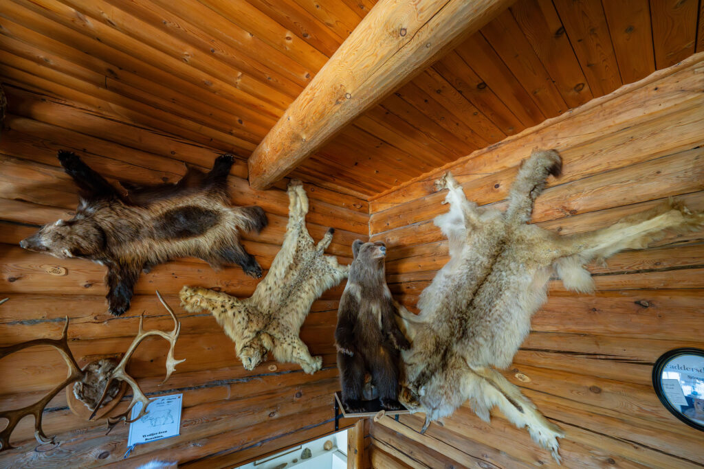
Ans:
{"label": "white paper sign with animal drawing, below the right antler", "polygon": [[[151,399],[146,415],[130,423],[130,437],[127,439],[127,447],[132,448],[135,444],[179,435],[182,400],[183,394]],[[137,402],[132,407],[130,418],[137,417],[141,410],[142,402]]]}

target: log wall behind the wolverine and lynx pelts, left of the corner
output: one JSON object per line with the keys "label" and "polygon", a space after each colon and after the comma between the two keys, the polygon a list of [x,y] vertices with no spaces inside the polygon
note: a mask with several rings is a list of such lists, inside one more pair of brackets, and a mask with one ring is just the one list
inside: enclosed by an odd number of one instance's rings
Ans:
{"label": "log wall behind the wolverine and lynx pelts, left of the corner", "polygon": [[[75,150],[111,181],[119,178],[143,184],[176,181],[184,173],[184,162],[206,169],[218,153],[26,86],[6,81],[5,89],[10,114],[0,136],[0,297],[10,297],[10,301],[0,310],[0,346],[58,338],[64,317],[68,317],[70,348],[81,363],[120,356],[137,333],[142,311],[147,329],[171,327],[171,319],[154,295],[158,289],[182,323],[175,356],[186,361],[158,387],[167,347],[163,340],[147,340],[134,355],[130,372],[151,396],[184,394],[181,435],[137,446],[130,465],[159,457],[223,467],[331,432],[332,392],[339,389],[332,335],[344,285],[315,302],[301,330],[310,352],[324,357],[322,371],[313,376],[303,373],[300,366],[275,361],[245,371],[215,319],[180,309],[177,293],[184,284],[251,295],[257,281],[237,266],[215,272],[199,259],[157,266],[140,278],[127,314],[120,318],[106,314],[103,267],[77,259],[55,259],[18,245],[39,225],[70,217],[75,210],[76,189],[58,165],[56,150]],[[232,200],[235,205],[257,204],[266,210],[270,226],[260,236],[245,235],[244,245],[268,269],[287,223],[285,185],[253,191],[246,176],[246,162],[237,161],[230,176]],[[330,188],[306,184],[306,190],[311,200],[307,217],[311,235],[319,239],[329,226],[334,227],[329,253],[350,262],[352,241],[368,237],[368,203]],[[54,266],[65,268],[66,274],[49,274]],[[0,409],[16,409],[36,401],[65,378],[65,364],[53,349],[34,347],[1,360],[0,376]],[[118,410],[124,410],[127,402],[123,399]],[[64,392],[47,406],[44,430],[56,435],[58,445],[34,451],[33,422],[30,418],[20,422],[12,437],[17,449],[0,455],[0,467],[89,467],[118,463],[125,454],[127,426],[118,425],[106,436],[104,420],[88,423],[74,416]]]}

